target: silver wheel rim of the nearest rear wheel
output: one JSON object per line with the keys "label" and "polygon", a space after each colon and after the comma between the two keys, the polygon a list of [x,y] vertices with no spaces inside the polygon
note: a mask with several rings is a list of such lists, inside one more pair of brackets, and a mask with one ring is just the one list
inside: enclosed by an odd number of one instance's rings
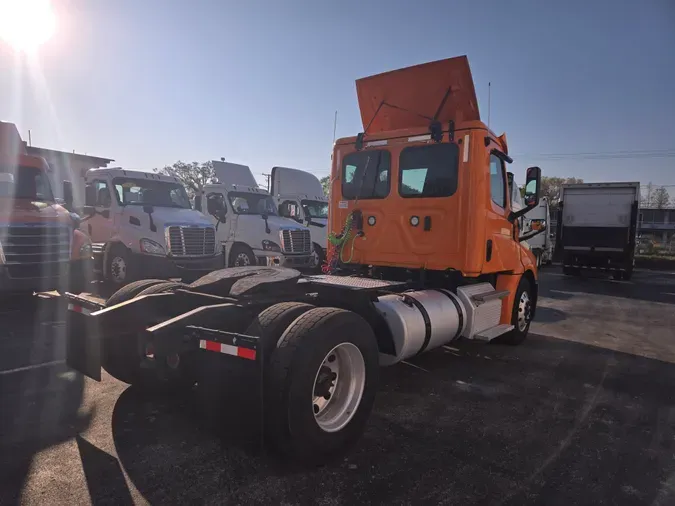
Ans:
{"label": "silver wheel rim of the nearest rear wheel", "polygon": [[337,432],[356,413],[366,385],[366,363],[352,343],[326,354],[314,378],[312,410],[321,430]]}

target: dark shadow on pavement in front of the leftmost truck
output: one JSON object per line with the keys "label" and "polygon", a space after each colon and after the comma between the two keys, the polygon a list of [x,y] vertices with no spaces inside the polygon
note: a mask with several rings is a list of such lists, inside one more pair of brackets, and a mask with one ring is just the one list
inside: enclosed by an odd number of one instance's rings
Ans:
{"label": "dark shadow on pavement in front of the leftmost truck", "polygon": [[31,309],[0,315],[0,504],[19,504],[36,453],[86,430],[91,420],[78,413],[82,376],[54,360],[59,346],[43,324],[55,316]]}

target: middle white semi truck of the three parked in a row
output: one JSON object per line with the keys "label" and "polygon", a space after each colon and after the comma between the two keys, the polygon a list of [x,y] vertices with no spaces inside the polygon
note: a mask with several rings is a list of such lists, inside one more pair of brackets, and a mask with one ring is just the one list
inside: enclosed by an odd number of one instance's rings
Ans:
{"label": "middle white semi truck of the three parked in a row", "polygon": [[279,216],[274,198],[258,187],[249,167],[220,161],[213,167],[217,182],[204,187],[195,207],[205,207],[211,217],[225,264],[310,267],[309,229]]}

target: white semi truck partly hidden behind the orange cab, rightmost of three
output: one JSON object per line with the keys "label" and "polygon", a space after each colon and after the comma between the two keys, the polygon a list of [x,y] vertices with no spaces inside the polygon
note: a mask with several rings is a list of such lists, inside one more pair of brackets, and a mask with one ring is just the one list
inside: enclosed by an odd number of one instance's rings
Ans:
{"label": "white semi truck partly hidden behind the orange cab, rightmost of three", "polygon": [[328,246],[328,199],[321,182],[310,172],[287,167],[274,167],[271,179],[272,195],[279,204],[279,215],[309,228],[312,265],[320,267]]}

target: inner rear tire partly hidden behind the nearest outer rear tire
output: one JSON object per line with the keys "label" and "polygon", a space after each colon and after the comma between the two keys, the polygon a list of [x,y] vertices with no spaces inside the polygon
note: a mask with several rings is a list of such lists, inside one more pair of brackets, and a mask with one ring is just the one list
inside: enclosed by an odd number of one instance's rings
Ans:
{"label": "inner rear tire partly hidden behind the nearest outer rear tire", "polygon": [[[279,304],[274,304],[260,313],[251,322],[244,334],[260,336],[262,356],[267,364],[284,331],[300,315],[310,309],[314,309],[314,307],[304,302],[280,302]],[[263,370],[266,370],[266,368],[263,368]]]}

